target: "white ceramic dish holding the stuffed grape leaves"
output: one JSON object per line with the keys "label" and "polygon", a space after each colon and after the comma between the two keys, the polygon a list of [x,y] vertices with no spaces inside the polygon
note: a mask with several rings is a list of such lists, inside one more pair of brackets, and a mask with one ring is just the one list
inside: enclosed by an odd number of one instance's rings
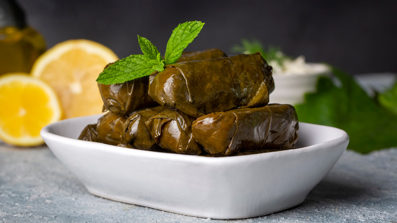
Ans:
{"label": "white ceramic dish holding the stuffed grape leaves", "polygon": [[247,218],[302,203],[345,151],[348,134],[299,123],[299,149],[235,157],[159,153],[76,140],[100,115],[44,127],[51,151],[91,193],[205,218]]}

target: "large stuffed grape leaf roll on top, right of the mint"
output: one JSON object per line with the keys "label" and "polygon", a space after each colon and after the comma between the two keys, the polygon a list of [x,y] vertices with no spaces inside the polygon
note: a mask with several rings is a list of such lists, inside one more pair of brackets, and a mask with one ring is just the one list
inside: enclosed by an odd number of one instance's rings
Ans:
{"label": "large stuffed grape leaf roll on top, right of the mint", "polygon": [[153,100],[196,118],[266,105],[273,90],[272,67],[259,52],[167,65],[149,83]]}

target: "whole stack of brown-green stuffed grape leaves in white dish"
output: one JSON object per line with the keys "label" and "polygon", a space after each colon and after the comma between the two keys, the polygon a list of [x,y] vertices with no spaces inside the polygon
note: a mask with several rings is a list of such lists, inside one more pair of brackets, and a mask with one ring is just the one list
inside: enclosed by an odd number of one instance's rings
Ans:
{"label": "whole stack of brown-green stuffed grape leaves in white dish", "polygon": [[272,67],[260,53],[183,53],[162,72],[98,84],[103,111],[79,139],[140,150],[231,156],[292,149],[298,118],[268,104]]}

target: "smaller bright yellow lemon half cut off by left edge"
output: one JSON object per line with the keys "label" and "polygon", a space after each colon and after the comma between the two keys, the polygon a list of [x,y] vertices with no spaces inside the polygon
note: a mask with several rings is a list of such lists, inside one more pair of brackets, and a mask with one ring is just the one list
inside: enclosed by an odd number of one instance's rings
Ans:
{"label": "smaller bright yellow lemon half cut off by left edge", "polygon": [[40,130],[62,117],[53,89],[27,73],[0,78],[0,105],[0,139],[15,146],[43,144]]}

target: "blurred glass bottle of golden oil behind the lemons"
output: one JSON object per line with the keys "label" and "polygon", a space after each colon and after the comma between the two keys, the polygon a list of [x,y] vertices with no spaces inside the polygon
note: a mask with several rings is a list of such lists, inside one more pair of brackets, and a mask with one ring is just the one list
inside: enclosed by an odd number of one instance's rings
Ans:
{"label": "blurred glass bottle of golden oil behind the lemons", "polygon": [[26,24],[19,5],[14,0],[0,0],[0,76],[29,73],[45,49],[43,37]]}

